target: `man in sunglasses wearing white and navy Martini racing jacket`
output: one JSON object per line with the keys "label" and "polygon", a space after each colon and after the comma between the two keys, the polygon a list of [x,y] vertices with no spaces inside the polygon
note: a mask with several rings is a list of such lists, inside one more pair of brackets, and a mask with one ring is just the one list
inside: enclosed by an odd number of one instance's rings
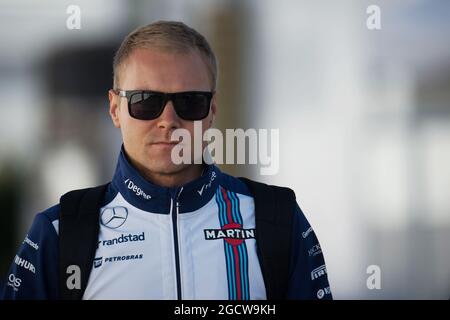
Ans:
{"label": "man in sunglasses wearing white and navy Martini racing jacket", "polygon": [[[267,299],[252,192],[214,165],[171,158],[176,129],[193,136],[194,121],[206,130],[216,114],[217,64],[209,44],[182,23],[156,22],[126,37],[113,67],[109,113],[123,146],[98,212],[82,298]],[[56,205],[36,216],[4,298],[60,297],[62,211]],[[317,238],[300,208],[292,211],[289,272],[276,275],[288,279],[280,296],[330,299]]]}

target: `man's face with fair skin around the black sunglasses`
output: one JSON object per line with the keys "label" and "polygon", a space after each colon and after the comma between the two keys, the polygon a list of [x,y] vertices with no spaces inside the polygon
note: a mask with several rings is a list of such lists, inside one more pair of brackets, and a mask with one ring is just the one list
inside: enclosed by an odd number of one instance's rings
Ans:
{"label": "man's face with fair skin around the black sunglasses", "polygon": [[[153,90],[160,92],[211,91],[208,69],[194,51],[167,53],[155,49],[135,49],[119,67],[122,90]],[[169,101],[161,116],[154,120],[138,120],[128,112],[127,99],[109,92],[110,115],[122,131],[125,151],[131,162],[150,175],[176,174],[189,164],[175,165],[171,160],[174,143],[172,132],[187,129],[193,140],[194,122],[183,120]],[[202,120],[203,131],[211,126],[216,112],[215,96],[208,116]],[[202,135],[203,136],[203,135]],[[201,138],[201,137],[200,137]]]}

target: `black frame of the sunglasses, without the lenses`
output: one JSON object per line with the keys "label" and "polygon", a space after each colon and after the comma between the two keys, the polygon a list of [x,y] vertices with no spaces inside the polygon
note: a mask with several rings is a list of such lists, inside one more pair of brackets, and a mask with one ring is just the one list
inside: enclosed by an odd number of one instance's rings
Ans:
{"label": "black frame of the sunglasses, without the lenses", "polygon": [[[118,95],[119,97],[124,97],[124,98],[127,99],[127,104],[128,104],[128,114],[130,115],[130,117],[132,117],[132,118],[134,118],[134,119],[138,119],[138,120],[143,120],[143,121],[146,121],[146,120],[145,120],[145,119],[139,119],[139,118],[136,118],[136,117],[134,117],[134,116],[132,115],[132,113],[131,113],[131,103],[130,103],[130,101],[131,101],[131,97],[132,97],[134,94],[137,94],[137,93],[140,93],[140,94],[143,94],[143,93],[150,93],[150,94],[158,94],[158,95],[162,95],[162,96],[163,96],[163,106],[161,107],[160,112],[158,113],[158,115],[157,115],[155,118],[153,118],[153,119],[148,119],[148,120],[155,120],[155,119],[158,119],[158,118],[161,116],[161,114],[164,112],[164,109],[165,109],[167,103],[168,103],[169,101],[172,101],[172,104],[173,104],[173,107],[174,107],[174,109],[175,109],[175,112],[176,112],[177,116],[180,117],[181,119],[185,120],[185,121],[197,121],[197,120],[203,120],[203,119],[205,119],[205,118],[208,116],[208,114],[209,114],[209,112],[210,112],[210,110],[211,110],[211,100],[212,100],[212,98],[213,98],[213,96],[214,96],[214,94],[215,94],[214,91],[182,91],[182,92],[173,92],[173,93],[160,92],[160,91],[154,91],[154,90],[121,90],[121,89],[113,89],[112,91],[113,91],[116,95]],[[176,108],[176,106],[175,106],[175,102],[174,102],[174,101],[175,101],[175,99],[176,99],[177,96],[179,96],[179,95],[184,95],[184,94],[201,94],[201,95],[206,96],[206,98],[208,99],[208,105],[209,105],[209,106],[208,106],[208,113],[206,113],[206,115],[205,115],[204,117],[202,117],[202,118],[200,118],[200,119],[194,119],[194,120],[185,119],[185,118],[181,117],[181,116],[178,114],[178,111],[177,111],[177,108]]]}

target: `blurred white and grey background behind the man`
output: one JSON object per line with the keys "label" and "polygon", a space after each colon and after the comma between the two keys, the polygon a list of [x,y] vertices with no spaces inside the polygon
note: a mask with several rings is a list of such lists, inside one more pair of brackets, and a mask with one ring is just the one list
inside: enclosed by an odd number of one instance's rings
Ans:
{"label": "blurred white and grey background behind the man", "polygon": [[218,127],[280,130],[277,175],[224,170],[295,190],[334,297],[450,298],[449,14],[444,0],[0,0],[1,276],[37,212],[111,178],[123,37],[180,20],[218,55]]}

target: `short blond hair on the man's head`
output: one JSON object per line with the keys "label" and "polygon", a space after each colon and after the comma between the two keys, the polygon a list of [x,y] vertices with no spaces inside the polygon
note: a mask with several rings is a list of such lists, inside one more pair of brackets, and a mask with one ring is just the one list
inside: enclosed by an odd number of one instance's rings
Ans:
{"label": "short blond hair on the man's head", "polygon": [[157,21],[139,27],[123,40],[114,56],[114,89],[119,85],[119,67],[136,48],[156,48],[175,53],[199,52],[208,68],[211,89],[216,89],[217,59],[208,41],[196,30],[176,21]]}

